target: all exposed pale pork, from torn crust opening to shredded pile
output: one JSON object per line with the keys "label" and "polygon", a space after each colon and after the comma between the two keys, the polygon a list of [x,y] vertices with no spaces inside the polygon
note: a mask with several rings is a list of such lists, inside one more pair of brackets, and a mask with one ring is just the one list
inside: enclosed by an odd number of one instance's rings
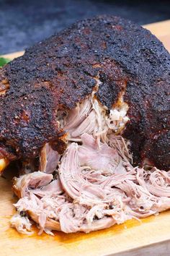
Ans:
{"label": "all exposed pale pork, from torn crust opening to shredded pile", "polygon": [[92,93],[57,116],[67,132],[65,152],[45,144],[40,171],[14,178],[20,199],[11,224],[17,231],[32,234],[33,220],[39,234],[87,233],[170,208],[170,171],[133,167],[130,142],[117,135],[127,109],[122,102],[107,111]]}

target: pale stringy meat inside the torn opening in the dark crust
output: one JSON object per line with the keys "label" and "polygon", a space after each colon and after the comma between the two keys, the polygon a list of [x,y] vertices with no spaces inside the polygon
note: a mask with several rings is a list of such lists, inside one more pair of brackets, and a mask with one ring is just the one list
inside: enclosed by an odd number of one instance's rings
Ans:
{"label": "pale stringy meat inside the torn opening in the dark crust", "polygon": [[68,140],[81,141],[81,135],[88,133],[99,140],[105,141],[109,127],[107,126],[106,110],[104,106],[91,95],[86,101],[78,103],[70,111],[65,120],[64,129],[68,131]]}

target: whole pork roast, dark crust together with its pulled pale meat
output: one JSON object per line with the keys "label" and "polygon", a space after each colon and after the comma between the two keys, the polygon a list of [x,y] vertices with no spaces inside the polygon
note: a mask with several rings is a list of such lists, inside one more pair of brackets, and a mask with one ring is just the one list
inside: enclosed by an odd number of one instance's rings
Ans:
{"label": "whole pork roast, dark crust together with its pulled pale meat", "polygon": [[163,44],[113,16],[0,69],[0,173],[17,162],[22,174],[12,226],[89,232],[170,208],[169,85]]}

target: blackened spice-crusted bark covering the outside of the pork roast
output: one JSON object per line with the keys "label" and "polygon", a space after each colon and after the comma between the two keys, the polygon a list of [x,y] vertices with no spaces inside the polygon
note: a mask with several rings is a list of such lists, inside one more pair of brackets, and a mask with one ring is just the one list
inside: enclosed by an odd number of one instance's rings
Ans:
{"label": "blackened spice-crusted bark covering the outside of the pork roast", "polygon": [[[77,22],[27,49],[0,70],[1,158],[32,158],[58,140],[56,111],[97,98],[112,108],[125,92],[130,121],[123,136],[136,163],[170,168],[170,56],[148,30],[119,17]],[[61,141],[61,142],[60,142]]]}

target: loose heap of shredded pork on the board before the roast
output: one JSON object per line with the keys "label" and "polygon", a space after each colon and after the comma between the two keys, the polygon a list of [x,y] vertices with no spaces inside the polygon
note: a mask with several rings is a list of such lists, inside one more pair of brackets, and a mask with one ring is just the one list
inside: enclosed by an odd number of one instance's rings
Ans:
{"label": "loose heap of shredded pork on the board before the roast", "polygon": [[[53,234],[52,230],[87,233],[170,208],[170,171],[157,168],[145,171],[133,168],[125,160],[120,164],[115,161],[118,155],[115,149],[102,142],[97,145],[97,139],[91,135],[84,134],[82,140],[83,145],[76,142],[68,145],[55,177],[35,172],[15,180],[21,199],[15,204],[18,213],[11,223],[18,231],[32,234],[27,214],[38,223],[39,234],[42,231]],[[82,154],[82,147],[86,148],[86,154]],[[102,155],[98,152],[98,160],[104,165],[91,161],[91,150],[96,147],[104,149]],[[91,160],[84,157],[88,153]],[[110,156],[111,166],[107,161]],[[115,171],[116,166],[119,172]]]}

